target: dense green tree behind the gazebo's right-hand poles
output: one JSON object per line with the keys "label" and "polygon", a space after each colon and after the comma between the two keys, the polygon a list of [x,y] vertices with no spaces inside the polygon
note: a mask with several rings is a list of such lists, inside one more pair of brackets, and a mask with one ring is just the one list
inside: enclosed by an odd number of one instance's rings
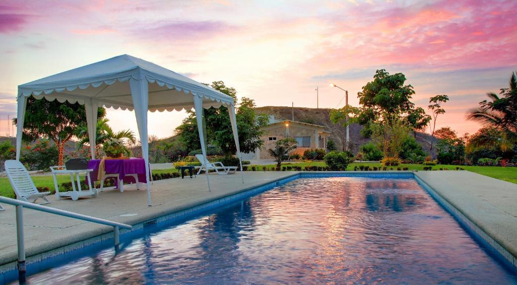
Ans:
{"label": "dense green tree behind the gazebo's right-hand poles", "polygon": [[[211,87],[225,93],[237,101],[234,88],[227,87],[222,81],[212,82]],[[264,134],[263,126],[267,125],[268,118],[257,115],[254,111],[255,103],[252,99],[243,97],[236,108],[236,120],[239,137],[240,151],[250,153],[264,145],[261,139]],[[226,107],[209,108],[204,110],[206,124],[206,137],[209,144],[219,146],[225,156],[235,153],[235,140],[233,137],[230,116]],[[195,112],[189,111],[189,116],[176,128],[182,144],[191,150],[199,149],[201,142],[197,131]]]}

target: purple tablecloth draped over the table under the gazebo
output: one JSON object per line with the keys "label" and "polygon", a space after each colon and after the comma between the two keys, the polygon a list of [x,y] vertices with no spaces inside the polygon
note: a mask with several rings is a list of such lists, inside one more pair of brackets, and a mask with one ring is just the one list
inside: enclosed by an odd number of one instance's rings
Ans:
{"label": "purple tablecloth draped over the table under the gazebo", "polygon": [[[90,160],[88,162],[88,169],[93,169],[92,172],[92,181],[96,180],[99,171],[100,160]],[[146,183],[147,179],[145,177],[145,160],[144,159],[130,159],[130,160],[105,160],[104,161],[104,171],[107,174],[118,173],[118,177],[123,179],[126,183],[135,183],[136,181],[132,176],[127,176],[129,174],[138,175],[138,181],[141,183]]]}

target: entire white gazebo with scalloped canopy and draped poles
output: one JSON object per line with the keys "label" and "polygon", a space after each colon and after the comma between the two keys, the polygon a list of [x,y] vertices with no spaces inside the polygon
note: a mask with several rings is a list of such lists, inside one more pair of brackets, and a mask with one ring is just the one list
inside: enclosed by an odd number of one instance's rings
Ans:
{"label": "entire white gazebo with scalloped canopy and draped poles", "polygon": [[[130,55],[120,55],[87,66],[75,68],[18,86],[18,125],[16,138],[16,159],[20,160],[22,130],[27,98],[57,99],[85,105],[86,121],[92,159],[95,159],[97,108],[100,106],[134,110],[142,155],[145,159],[147,176],[147,203],[151,205],[149,187],[149,153],[147,141],[147,111],[182,110],[195,108],[197,129],[201,150],[206,159],[203,139],[203,108],[226,106],[229,110],[237,156],[241,159],[235,106],[232,97],[227,96],[188,77],[163,68],[152,62]],[[240,161],[241,177],[242,162]],[[206,172],[208,190],[209,176]]]}

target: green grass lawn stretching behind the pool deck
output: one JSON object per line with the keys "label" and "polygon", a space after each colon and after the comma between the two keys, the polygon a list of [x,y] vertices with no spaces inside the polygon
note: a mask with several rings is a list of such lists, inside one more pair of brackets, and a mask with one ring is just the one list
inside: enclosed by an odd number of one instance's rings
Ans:
{"label": "green grass lawn stretching behind the pool deck", "polygon": [[[282,166],[287,166],[287,165],[296,165],[296,166],[301,166],[301,168],[303,169],[304,167],[306,166],[309,166],[309,165],[316,165],[316,166],[325,166],[325,163],[324,162],[303,162],[303,163],[282,163]],[[347,169],[346,170],[354,170],[354,166],[359,166],[359,165],[368,165],[368,166],[381,166],[380,163],[358,163],[358,162],[355,162],[355,163],[352,163],[350,165],[348,165]],[[248,166],[248,169],[251,170],[251,167],[253,165],[249,165]],[[274,167],[275,165],[271,164],[271,165],[256,165],[256,170],[257,171],[262,171],[262,167],[263,166],[266,166],[268,169],[271,169],[271,167]],[[407,167],[409,168],[409,170],[422,170],[424,165],[421,165],[421,164],[401,164],[400,167]],[[433,166],[433,169],[440,169],[440,168],[448,168],[449,170],[453,170],[455,169],[456,167],[458,167],[457,165],[436,165],[436,166]],[[494,166],[461,166],[462,168],[464,168],[465,170],[468,170],[468,171],[472,171],[472,172],[476,172],[476,173],[479,173],[481,175],[486,175],[486,176],[490,176],[490,177],[493,177],[493,178],[496,178],[496,179],[500,179],[500,180],[505,180],[505,181],[508,181],[508,182],[512,182],[512,183],[515,183],[517,184],[517,169],[514,168],[514,167],[494,167]],[[397,167],[393,167],[394,169],[397,169]],[[176,169],[174,168],[169,168],[169,169],[156,169],[156,170],[153,170],[153,173],[166,173],[166,172],[173,172],[173,171],[176,171]],[[32,177],[33,181],[34,181],[34,184],[36,184],[36,186],[41,186],[41,187],[49,187],[49,189],[54,192],[54,181],[52,179],[52,176],[51,175],[48,175],[48,176],[33,176]],[[57,176],[57,182],[59,184],[63,183],[63,182],[70,182],[70,178],[69,176],[66,176],[66,175],[58,175]],[[10,197],[10,198],[14,198],[14,192],[12,191],[12,188],[11,188],[11,184],[9,183],[9,180],[7,179],[7,177],[2,177],[0,178],[0,195],[1,196],[5,196],[5,197]]]}

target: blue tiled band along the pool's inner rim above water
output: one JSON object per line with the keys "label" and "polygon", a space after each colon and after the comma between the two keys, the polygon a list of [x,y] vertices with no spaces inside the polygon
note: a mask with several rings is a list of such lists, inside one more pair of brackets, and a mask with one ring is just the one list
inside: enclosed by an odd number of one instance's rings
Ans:
{"label": "blue tiled band along the pool's inner rim above water", "polygon": [[[454,207],[447,199],[440,196],[428,183],[418,176],[417,171],[293,171],[290,175],[286,175],[281,178],[273,179],[270,181],[258,183],[253,186],[244,187],[238,189],[233,193],[223,194],[220,197],[207,198],[198,201],[195,204],[186,204],[184,207],[174,210],[168,214],[162,214],[152,219],[136,223],[133,225],[132,230],[121,230],[121,239],[128,239],[132,235],[141,233],[145,227],[149,225],[158,225],[163,223],[172,223],[174,220],[186,219],[191,216],[195,216],[202,212],[221,207],[223,205],[230,204],[237,200],[241,200],[258,193],[262,193],[273,187],[288,183],[290,181],[299,178],[318,178],[318,177],[370,177],[370,178],[413,178],[415,179],[430,196],[444,208],[449,214],[451,214],[459,224],[467,230],[475,239],[488,245],[490,249],[500,255],[501,259],[507,262],[507,265],[511,265],[514,269],[517,269],[517,258],[511,254],[507,248],[499,244],[491,235],[483,231],[479,225],[475,224],[470,220],[462,211]],[[37,255],[27,257],[27,265],[35,264],[37,262],[54,258],[60,255],[67,254],[71,251],[84,248],[86,246],[92,246],[97,243],[109,241],[113,239],[112,231],[105,232],[103,234],[89,237],[80,242],[71,243],[69,245],[52,249],[49,251],[42,252]],[[0,265],[0,281],[7,277],[7,274],[12,273],[16,270],[16,261],[9,262]],[[1,283],[1,282],[0,282]]]}

